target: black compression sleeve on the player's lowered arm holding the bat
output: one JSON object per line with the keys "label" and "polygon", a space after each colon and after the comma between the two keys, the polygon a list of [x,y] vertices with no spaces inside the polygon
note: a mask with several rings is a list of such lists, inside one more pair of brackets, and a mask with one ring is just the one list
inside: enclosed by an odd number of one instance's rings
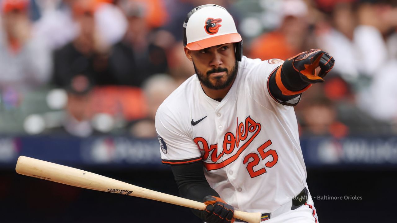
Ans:
{"label": "black compression sleeve on the player's lowered arm holding the bat", "polygon": [[[173,165],[171,169],[181,197],[198,202],[202,202],[208,195],[219,197],[219,194],[208,184],[201,162]],[[191,210],[197,217],[204,219],[204,211]]]}

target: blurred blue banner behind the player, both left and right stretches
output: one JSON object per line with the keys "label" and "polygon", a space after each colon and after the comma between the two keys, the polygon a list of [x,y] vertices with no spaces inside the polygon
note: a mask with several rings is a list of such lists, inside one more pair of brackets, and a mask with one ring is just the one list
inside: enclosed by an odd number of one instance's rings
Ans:
{"label": "blurred blue banner behind the player, both left and right stretches", "polygon": [[[347,165],[397,167],[397,137],[301,138],[307,167]],[[123,136],[0,137],[0,167],[13,168],[19,156],[79,166],[165,168],[159,142]]]}

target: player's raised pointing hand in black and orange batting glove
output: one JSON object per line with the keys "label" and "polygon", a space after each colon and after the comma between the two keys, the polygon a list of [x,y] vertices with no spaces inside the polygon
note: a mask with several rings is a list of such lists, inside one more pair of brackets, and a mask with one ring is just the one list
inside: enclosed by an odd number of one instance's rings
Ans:
{"label": "player's raised pointing hand in black and orange batting glove", "polygon": [[[331,71],[335,63],[335,60],[330,54],[320,49],[302,52],[289,58],[288,62],[291,60],[294,69],[299,72],[303,81],[311,84],[324,82],[323,77]],[[319,72],[316,69],[318,67],[320,67]]]}

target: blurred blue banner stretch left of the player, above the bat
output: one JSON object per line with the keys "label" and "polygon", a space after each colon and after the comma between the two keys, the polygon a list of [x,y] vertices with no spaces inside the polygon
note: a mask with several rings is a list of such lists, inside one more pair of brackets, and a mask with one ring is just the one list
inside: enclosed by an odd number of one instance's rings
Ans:
{"label": "blurred blue banner stretch left of the player, above the bat", "polygon": [[65,165],[161,168],[159,143],[154,139],[119,136],[77,138],[22,136],[0,138],[0,166],[15,167],[19,156]]}

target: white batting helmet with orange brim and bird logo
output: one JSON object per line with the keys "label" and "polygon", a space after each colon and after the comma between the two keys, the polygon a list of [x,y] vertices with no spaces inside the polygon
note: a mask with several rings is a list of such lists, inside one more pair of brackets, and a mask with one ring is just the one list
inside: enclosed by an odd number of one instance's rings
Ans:
{"label": "white batting helmet with orange brim and bird logo", "polygon": [[233,17],[222,6],[207,4],[191,10],[183,23],[183,46],[201,50],[225,43],[235,43],[236,60],[243,56],[243,40]]}

